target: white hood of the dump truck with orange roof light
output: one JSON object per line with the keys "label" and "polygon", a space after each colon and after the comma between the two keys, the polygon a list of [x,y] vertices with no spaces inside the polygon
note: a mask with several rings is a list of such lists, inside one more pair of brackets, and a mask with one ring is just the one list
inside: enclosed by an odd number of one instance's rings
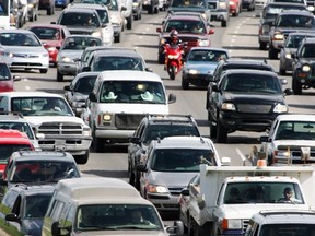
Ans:
{"label": "white hood of the dump truck with orange roof light", "polygon": [[218,208],[218,215],[220,217],[229,219],[250,219],[253,214],[258,213],[261,210],[275,210],[275,209],[303,209],[306,210],[306,204],[269,204],[269,203],[247,203],[247,204],[223,204]]}

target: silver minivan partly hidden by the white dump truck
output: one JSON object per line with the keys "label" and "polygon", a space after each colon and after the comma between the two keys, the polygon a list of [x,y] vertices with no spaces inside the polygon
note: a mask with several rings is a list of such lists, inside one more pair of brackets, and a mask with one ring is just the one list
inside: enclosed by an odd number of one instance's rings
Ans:
{"label": "silver minivan partly hidden by the white dump truck", "polygon": [[[223,161],[223,160],[222,160]],[[139,165],[140,193],[159,212],[178,212],[178,197],[199,165],[221,166],[212,141],[202,137],[166,137],[152,140]]]}

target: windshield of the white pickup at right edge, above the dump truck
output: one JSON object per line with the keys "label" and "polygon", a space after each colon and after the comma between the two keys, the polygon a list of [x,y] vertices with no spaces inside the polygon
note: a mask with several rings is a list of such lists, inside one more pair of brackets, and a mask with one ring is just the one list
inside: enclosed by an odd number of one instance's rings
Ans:
{"label": "windshield of the white pickup at right edge, above the dump truck", "polygon": [[315,122],[281,121],[276,140],[315,140]]}

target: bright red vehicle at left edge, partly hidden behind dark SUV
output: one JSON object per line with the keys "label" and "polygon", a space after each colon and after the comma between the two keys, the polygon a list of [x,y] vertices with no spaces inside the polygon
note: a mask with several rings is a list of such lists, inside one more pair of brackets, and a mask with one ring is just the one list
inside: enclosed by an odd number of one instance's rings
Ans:
{"label": "bright red vehicle at left edge, partly hidden behind dark SUV", "polygon": [[0,128],[0,177],[7,167],[8,160],[11,154],[19,150],[34,150],[34,146],[28,137],[19,130]]}

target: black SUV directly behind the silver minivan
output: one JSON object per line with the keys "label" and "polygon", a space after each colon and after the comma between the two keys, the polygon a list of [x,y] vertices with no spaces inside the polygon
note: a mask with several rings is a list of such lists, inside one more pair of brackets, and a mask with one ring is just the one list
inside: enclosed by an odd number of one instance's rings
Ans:
{"label": "black SUV directly behind the silver minivan", "polygon": [[195,135],[200,137],[198,125],[188,115],[147,115],[129,138],[128,146],[128,173],[129,182],[139,188],[139,173],[136,166],[139,164],[150,142],[171,135]]}

